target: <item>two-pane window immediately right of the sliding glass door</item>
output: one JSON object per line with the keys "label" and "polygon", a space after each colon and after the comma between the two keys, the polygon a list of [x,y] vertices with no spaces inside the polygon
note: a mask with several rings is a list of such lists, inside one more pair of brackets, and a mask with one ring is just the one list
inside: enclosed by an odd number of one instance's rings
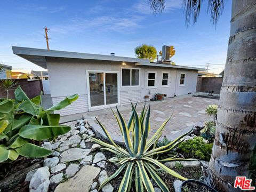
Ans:
{"label": "two-pane window immediately right of the sliding glass door", "polygon": [[139,86],[140,69],[122,69],[122,86]]}

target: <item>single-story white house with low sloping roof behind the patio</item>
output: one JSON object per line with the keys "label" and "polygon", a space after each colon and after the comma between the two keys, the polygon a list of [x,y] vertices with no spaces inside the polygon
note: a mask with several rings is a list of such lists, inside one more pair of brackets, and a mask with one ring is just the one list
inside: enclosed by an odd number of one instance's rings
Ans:
{"label": "single-story white house with low sloping roof behind the patio", "polygon": [[111,55],[47,51],[13,46],[13,53],[47,69],[53,104],[77,93],[73,105],[61,115],[145,101],[145,95],[167,97],[194,93],[198,70],[150,62],[146,59]]}

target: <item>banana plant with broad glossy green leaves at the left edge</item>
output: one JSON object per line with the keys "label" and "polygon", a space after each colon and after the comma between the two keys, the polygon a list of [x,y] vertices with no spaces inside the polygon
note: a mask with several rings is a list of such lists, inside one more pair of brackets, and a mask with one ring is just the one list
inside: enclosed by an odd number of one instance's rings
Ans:
{"label": "banana plant with broad glossy green leaves at the left edge", "polygon": [[38,146],[40,141],[52,140],[70,131],[59,125],[60,110],[77,100],[74,94],[49,109],[41,106],[42,93],[29,99],[19,86],[14,99],[0,99],[0,163],[23,157],[44,157],[52,153]]}

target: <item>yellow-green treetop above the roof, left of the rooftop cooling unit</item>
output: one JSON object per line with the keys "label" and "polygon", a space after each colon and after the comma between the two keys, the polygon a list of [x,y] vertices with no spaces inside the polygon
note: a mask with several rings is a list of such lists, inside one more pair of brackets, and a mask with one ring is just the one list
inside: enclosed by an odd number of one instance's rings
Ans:
{"label": "yellow-green treetop above the roof, left of the rooftop cooling unit", "polygon": [[149,59],[154,61],[157,57],[157,51],[154,46],[142,44],[134,49],[135,54],[140,59]]}

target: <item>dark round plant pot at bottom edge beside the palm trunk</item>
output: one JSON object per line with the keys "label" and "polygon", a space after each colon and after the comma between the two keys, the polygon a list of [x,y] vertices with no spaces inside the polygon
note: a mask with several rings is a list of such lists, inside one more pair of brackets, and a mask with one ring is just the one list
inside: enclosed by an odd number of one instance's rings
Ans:
{"label": "dark round plant pot at bottom edge beside the palm trunk", "polygon": [[181,183],[180,192],[196,192],[196,191],[218,192],[212,187],[207,186],[205,183],[194,180],[194,179],[189,179]]}

